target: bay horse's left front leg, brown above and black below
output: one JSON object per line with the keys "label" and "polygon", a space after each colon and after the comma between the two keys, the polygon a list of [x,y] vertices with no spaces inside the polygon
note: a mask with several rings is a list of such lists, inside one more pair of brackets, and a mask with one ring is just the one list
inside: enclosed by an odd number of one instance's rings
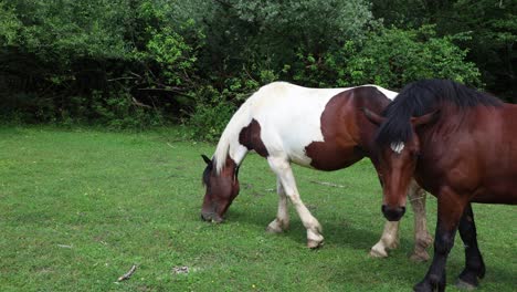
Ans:
{"label": "bay horse's left front leg, brown above and black below", "polygon": [[437,206],[436,231],[434,238],[434,257],[424,279],[414,286],[414,291],[445,291],[445,263],[454,246],[460,218],[467,205],[449,188],[440,191]]}

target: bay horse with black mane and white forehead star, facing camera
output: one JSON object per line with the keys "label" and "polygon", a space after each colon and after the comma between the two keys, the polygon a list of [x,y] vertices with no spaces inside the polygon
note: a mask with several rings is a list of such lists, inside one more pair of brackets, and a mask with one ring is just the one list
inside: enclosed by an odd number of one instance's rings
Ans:
{"label": "bay horse with black mane and white forehead star, facing camera", "polygon": [[517,105],[453,81],[424,80],[407,85],[381,115],[365,114],[380,125],[377,169],[384,217],[403,216],[413,177],[437,198],[433,261],[414,290],[445,290],[456,230],[465,246],[465,268],[456,284],[476,288],[485,263],[472,204],[517,204]]}

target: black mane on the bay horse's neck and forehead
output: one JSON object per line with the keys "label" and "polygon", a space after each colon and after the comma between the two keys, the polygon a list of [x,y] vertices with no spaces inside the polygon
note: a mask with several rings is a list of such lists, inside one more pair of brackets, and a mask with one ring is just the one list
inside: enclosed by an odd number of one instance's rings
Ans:
{"label": "black mane on the bay horse's neck and forehead", "polygon": [[412,116],[422,116],[443,104],[453,104],[465,112],[477,105],[499,106],[497,97],[469,88],[450,80],[422,80],[407,85],[383,111],[387,118],[380,126],[376,142],[380,146],[407,142],[411,138]]}

